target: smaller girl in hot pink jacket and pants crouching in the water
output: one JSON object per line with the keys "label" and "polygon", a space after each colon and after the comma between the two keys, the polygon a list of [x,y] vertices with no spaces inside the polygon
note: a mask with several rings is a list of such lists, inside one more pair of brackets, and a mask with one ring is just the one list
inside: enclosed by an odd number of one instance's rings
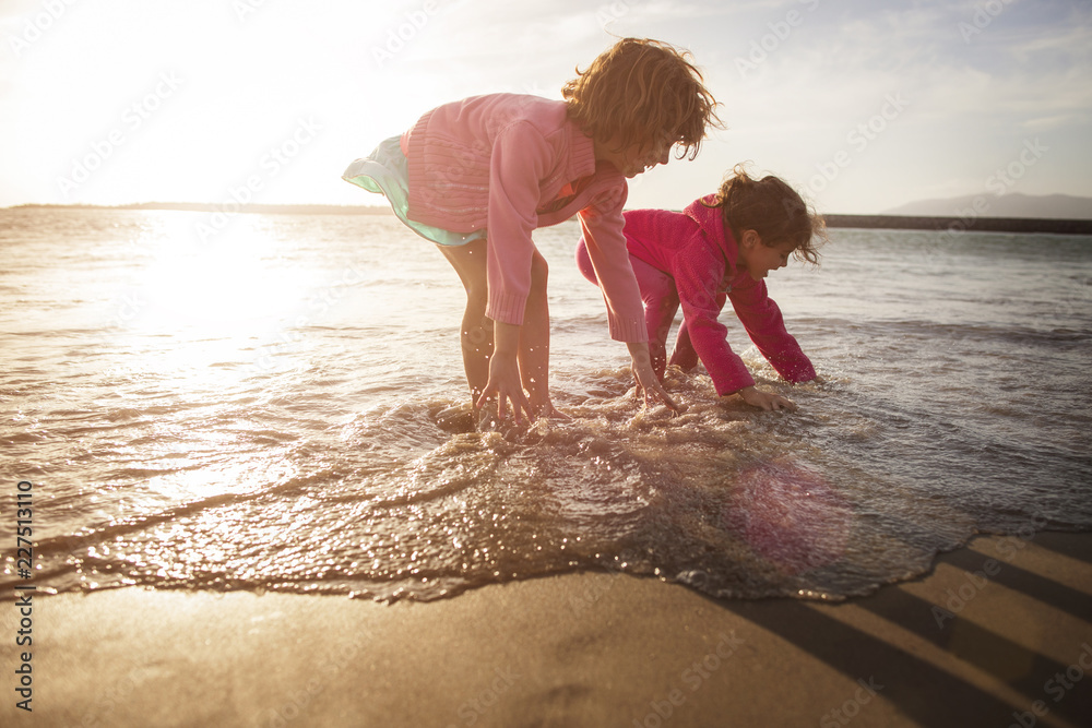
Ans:
{"label": "smaller girl in hot pink jacket and pants crouching in the water", "polygon": [[[788,256],[818,264],[823,220],[776,177],[753,180],[737,166],[716,194],[696,200],[681,213],[634,210],[625,214],[626,241],[644,301],[645,326],[656,375],[667,363],[666,341],[675,312],[682,325],[670,363],[684,370],[705,366],[716,393],[738,394],[762,409],[795,409],[785,397],[755,387],[755,380],[726,341],[717,321],[726,300],[759,351],[790,382],[816,379],[811,362],[785,331],[763,278],[788,264]],[[597,283],[586,241],[577,264]]]}

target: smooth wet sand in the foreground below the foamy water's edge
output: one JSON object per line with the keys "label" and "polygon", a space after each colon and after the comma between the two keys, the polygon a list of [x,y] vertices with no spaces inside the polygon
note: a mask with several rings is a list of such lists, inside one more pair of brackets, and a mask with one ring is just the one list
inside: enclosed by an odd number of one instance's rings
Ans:
{"label": "smooth wet sand in the foreground below the foamy water's edge", "polygon": [[[5,726],[1087,726],[1092,537],[980,537],[828,605],[616,574],[427,604],[35,596]],[[5,632],[16,630],[14,606]]]}

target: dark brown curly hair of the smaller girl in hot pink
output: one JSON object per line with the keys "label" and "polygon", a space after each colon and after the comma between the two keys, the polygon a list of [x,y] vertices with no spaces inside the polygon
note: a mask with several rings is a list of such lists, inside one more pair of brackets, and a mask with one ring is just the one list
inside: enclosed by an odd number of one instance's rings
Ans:
{"label": "dark brown curly hair of the smaller girl in hot pink", "polygon": [[745,230],[755,230],[762,244],[776,248],[793,243],[793,255],[819,265],[819,248],[828,242],[827,223],[784,180],[768,176],[753,179],[744,165],[736,165],[724,180],[712,203],[721,207],[724,224],[740,240]]}

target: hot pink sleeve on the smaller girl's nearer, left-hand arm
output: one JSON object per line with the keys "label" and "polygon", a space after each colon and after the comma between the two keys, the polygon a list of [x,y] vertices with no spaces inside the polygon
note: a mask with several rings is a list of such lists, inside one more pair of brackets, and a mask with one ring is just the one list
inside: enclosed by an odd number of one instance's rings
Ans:
{"label": "hot pink sleeve on the smaller girl's nearer, left-hand arm", "polygon": [[675,285],[690,343],[722,396],[755,383],[717,320],[724,306],[724,296],[717,295],[723,275],[724,259],[705,247],[691,247],[675,259]]}

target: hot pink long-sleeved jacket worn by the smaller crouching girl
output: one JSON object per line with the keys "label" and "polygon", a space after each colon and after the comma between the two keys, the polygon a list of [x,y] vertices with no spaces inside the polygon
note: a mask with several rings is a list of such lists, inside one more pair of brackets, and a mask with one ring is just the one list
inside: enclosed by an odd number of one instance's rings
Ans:
{"label": "hot pink long-sleeved jacket worn by the smaller crouching girl", "polygon": [[[713,195],[704,201],[711,203]],[[732,301],[747,334],[778,373],[790,382],[815,379],[811,361],[785,331],[781,309],[767,293],[765,282],[736,268],[739,248],[732,231],[724,227],[721,212],[701,204],[701,200],[681,213],[629,211],[629,251],[675,278],[690,342],[717,394],[755,384],[743,359],[728,346],[727,329],[717,321],[725,299]],[[697,363],[675,357],[672,360],[684,366]]]}

